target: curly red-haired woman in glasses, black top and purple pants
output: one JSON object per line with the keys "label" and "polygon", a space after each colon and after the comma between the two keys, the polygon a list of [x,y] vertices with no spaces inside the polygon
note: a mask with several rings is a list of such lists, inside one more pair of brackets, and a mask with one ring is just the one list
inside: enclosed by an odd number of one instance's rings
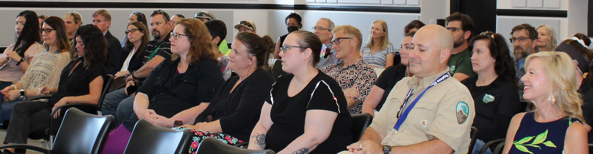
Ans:
{"label": "curly red-haired woman in glasses, black top and purple pants", "polygon": [[152,70],[136,92],[133,112],[119,115],[128,112],[118,111],[117,117],[123,123],[107,136],[102,153],[123,153],[140,119],[158,126],[195,124],[197,115],[208,107],[225,82],[216,55],[211,52],[212,37],[202,21],[179,20],[169,40],[177,59],[165,59]]}

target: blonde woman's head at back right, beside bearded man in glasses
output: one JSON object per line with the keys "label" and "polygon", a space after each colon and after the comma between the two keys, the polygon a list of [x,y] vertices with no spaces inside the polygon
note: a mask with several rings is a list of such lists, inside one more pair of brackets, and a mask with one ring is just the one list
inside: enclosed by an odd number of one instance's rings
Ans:
{"label": "blonde woman's head at back right, beside bearded man in glasses", "polygon": [[554,31],[554,27],[547,24],[541,24],[535,27],[535,30],[537,31],[537,40],[535,40],[537,51],[554,51],[558,46],[556,43],[556,31]]}

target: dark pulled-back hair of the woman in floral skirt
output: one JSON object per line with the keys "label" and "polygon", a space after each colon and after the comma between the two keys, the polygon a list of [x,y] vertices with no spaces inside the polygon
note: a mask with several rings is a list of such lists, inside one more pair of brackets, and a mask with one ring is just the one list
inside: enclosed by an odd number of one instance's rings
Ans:
{"label": "dark pulled-back hair of the woman in floral skirt", "polygon": [[256,56],[257,68],[269,70],[268,60],[276,46],[270,36],[260,37],[257,34],[243,31],[235,37],[247,47],[247,53]]}

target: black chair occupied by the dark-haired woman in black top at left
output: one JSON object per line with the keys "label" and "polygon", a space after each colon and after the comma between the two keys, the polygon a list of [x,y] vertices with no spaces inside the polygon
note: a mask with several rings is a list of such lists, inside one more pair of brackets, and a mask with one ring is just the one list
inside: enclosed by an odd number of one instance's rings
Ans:
{"label": "black chair occupied by the dark-haired woman in black top at left", "polygon": [[[104,84],[105,86],[103,87],[102,91],[101,91],[101,97],[99,97],[99,101],[97,104],[86,104],[86,103],[72,103],[72,104],[65,104],[65,105],[61,105],[59,107],[57,107],[55,110],[52,111],[52,114],[50,115],[54,115],[56,114],[56,111],[59,111],[59,109],[68,109],[68,108],[72,108],[72,107],[76,107],[76,108],[84,108],[84,109],[88,109],[88,110],[84,110],[86,113],[90,113],[90,114],[95,114],[98,115],[98,112],[101,111],[101,106],[103,106],[103,100],[105,98],[105,95],[107,95],[107,93],[109,93],[109,87],[111,86],[111,82],[113,82],[113,76],[112,75],[108,75],[109,78],[107,78],[106,82],[107,84]],[[41,100],[41,99],[47,99],[48,102],[51,101],[52,95],[40,95],[40,96],[35,96],[35,97],[30,97],[27,98],[27,100],[25,101],[33,101],[33,100]],[[64,114],[65,111],[61,111],[60,114]],[[34,131],[33,133],[30,133],[27,137],[31,140],[42,140],[42,145],[43,147],[46,148],[51,148],[51,146],[53,145],[53,135],[55,135],[57,132],[53,130],[53,120],[52,122],[50,122],[50,127],[47,130],[39,130],[39,131]]]}

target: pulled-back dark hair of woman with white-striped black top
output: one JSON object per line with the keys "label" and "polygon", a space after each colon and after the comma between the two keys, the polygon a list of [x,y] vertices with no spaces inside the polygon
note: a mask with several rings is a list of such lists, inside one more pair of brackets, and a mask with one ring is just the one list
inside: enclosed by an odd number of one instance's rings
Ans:
{"label": "pulled-back dark hair of woman with white-striped black top", "polygon": [[315,36],[315,34],[311,33],[310,31],[293,31],[289,35],[298,35],[298,46],[304,47],[301,48],[301,52],[306,50],[307,48],[311,49],[313,52],[311,56],[313,56],[313,66],[319,63],[319,55],[321,54],[321,47],[323,43],[319,37]]}

